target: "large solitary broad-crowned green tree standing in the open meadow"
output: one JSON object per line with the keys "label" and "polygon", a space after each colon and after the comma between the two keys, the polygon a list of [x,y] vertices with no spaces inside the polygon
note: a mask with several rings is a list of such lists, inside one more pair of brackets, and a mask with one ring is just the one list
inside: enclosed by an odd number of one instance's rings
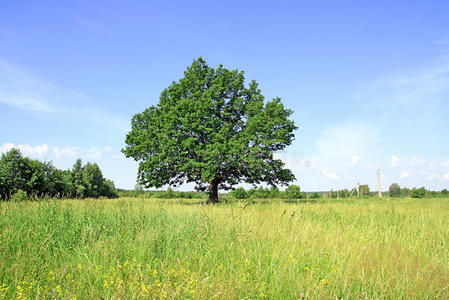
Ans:
{"label": "large solitary broad-crowned green tree standing in the open meadow", "polygon": [[242,71],[195,60],[159,104],[136,114],[122,150],[139,162],[145,187],[194,182],[218,202],[218,190],[245,181],[287,184],[294,180],[273,157],[293,141],[292,111],[279,98],[264,101]]}

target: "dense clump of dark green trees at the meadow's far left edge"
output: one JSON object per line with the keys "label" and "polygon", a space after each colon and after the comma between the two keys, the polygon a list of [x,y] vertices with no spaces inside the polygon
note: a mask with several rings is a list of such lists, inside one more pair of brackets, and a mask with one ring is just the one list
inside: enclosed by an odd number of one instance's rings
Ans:
{"label": "dense clump of dark green trees at the meadow's far left edge", "polygon": [[22,156],[18,149],[0,159],[0,199],[24,200],[41,197],[118,197],[114,183],[103,177],[96,163],[82,165],[78,159],[71,170],[59,170],[51,162]]}

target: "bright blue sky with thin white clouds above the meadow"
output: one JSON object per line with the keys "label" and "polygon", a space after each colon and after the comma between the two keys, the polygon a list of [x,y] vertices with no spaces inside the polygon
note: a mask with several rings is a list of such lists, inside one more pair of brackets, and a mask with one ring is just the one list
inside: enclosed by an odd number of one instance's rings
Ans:
{"label": "bright blue sky with thin white clouds above the meadow", "polygon": [[[244,70],[294,110],[278,153],[303,190],[449,188],[447,1],[3,1],[0,151],[97,162],[194,58]],[[185,186],[182,189],[189,189]]]}

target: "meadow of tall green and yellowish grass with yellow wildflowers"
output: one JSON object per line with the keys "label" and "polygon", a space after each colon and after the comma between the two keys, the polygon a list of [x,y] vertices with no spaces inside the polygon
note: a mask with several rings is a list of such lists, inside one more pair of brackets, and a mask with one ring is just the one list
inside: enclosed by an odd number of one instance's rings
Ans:
{"label": "meadow of tall green and yellowish grass with yellow wildflowers", "polygon": [[0,203],[0,299],[449,298],[449,199]]}

